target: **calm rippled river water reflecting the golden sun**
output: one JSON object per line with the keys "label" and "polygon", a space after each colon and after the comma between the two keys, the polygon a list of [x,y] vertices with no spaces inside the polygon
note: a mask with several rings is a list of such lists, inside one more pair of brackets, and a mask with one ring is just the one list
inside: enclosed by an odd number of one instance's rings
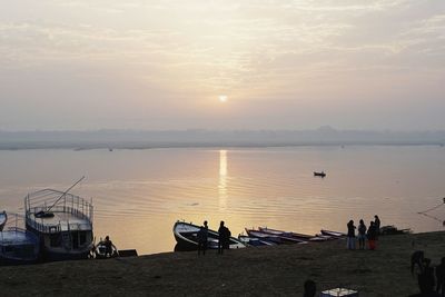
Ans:
{"label": "calm rippled river water reflecting the golden sun", "polygon": [[[41,188],[92,197],[95,234],[140,254],[174,249],[177,219],[234,235],[245,227],[315,234],[344,230],[349,219],[415,231],[442,230],[416,212],[445,196],[441,147],[296,147],[261,149],[0,151],[1,207],[22,211],[22,198]],[[325,170],[326,178],[313,176]],[[445,207],[432,214],[445,219]]]}

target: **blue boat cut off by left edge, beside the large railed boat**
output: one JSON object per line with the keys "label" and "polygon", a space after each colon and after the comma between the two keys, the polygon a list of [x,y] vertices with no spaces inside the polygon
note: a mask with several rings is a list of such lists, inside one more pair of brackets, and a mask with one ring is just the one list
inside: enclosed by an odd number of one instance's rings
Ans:
{"label": "blue boat cut off by left edge, beside the large railed boat", "polygon": [[0,265],[31,264],[39,259],[39,238],[24,229],[24,218],[17,214],[0,231]]}

